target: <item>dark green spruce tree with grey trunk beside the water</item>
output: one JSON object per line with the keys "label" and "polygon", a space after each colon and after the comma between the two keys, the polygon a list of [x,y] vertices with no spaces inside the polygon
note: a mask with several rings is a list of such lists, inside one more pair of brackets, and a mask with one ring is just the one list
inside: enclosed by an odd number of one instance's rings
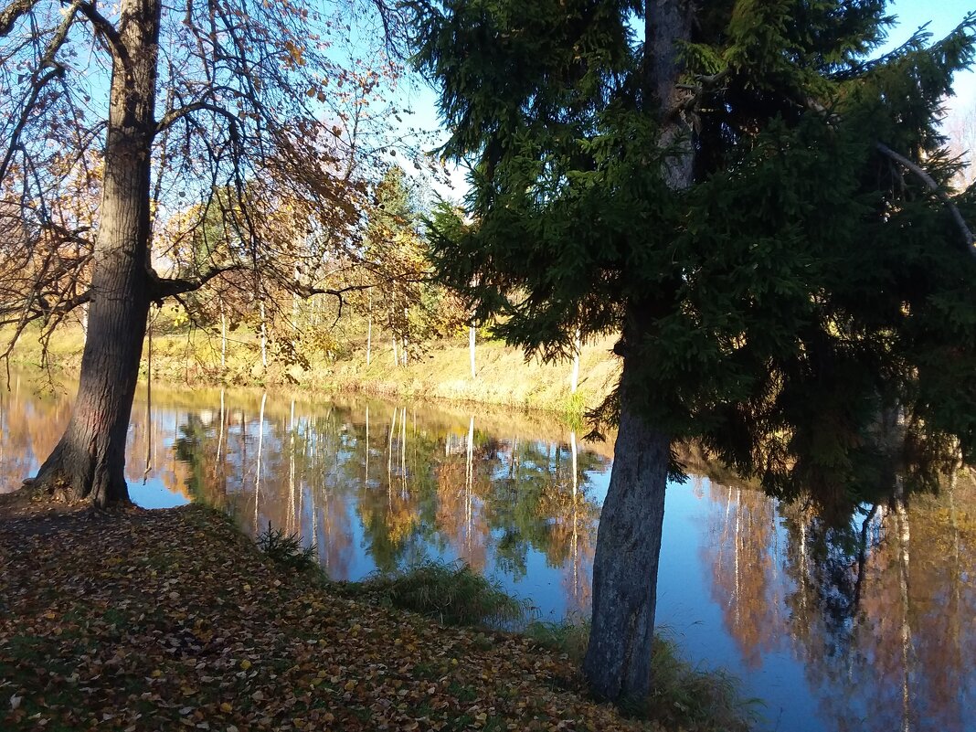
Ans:
{"label": "dark green spruce tree with grey trunk beside the water", "polygon": [[874,58],[885,5],[413,4],[443,152],[473,171],[440,274],[529,352],[621,334],[584,664],[604,698],[648,690],[679,440],[820,506],[888,446],[976,447],[974,208],[938,129],[976,17]]}

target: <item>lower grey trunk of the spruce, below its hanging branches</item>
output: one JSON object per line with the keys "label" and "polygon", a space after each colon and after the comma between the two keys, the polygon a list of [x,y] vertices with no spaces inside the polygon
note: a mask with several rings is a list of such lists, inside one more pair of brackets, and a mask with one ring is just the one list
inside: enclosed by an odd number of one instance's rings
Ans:
{"label": "lower grey trunk of the spruce, below its hanging branches", "polygon": [[624,358],[620,429],[596,534],[592,628],[583,664],[592,692],[616,702],[641,701],[650,688],[671,447],[628,398],[633,358]]}

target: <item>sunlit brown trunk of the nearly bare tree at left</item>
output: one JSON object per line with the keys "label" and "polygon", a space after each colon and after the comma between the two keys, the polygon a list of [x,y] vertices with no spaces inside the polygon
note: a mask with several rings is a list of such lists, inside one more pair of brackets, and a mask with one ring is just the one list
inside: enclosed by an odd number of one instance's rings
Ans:
{"label": "sunlit brown trunk of the nearly bare tree at left", "polygon": [[112,63],[102,216],[78,396],[37,488],[128,502],[125,445],[149,310],[149,169],[155,131],[158,0],[123,0]]}

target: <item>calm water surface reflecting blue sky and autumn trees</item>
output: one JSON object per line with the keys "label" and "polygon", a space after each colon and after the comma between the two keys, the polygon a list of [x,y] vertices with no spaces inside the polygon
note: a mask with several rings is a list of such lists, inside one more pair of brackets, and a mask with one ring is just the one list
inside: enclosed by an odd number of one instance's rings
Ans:
{"label": "calm water surface reflecting blue sky and autumn trees", "polygon": [[[2,397],[0,490],[57,442],[69,399]],[[461,559],[531,600],[587,615],[609,446],[486,407],[154,390],[128,474],[148,508],[204,500],[250,532],[314,544],[334,579]],[[148,470],[146,471],[146,464]],[[802,507],[692,476],[669,488],[659,625],[738,674],[765,729],[976,730],[976,485],[828,530]]]}

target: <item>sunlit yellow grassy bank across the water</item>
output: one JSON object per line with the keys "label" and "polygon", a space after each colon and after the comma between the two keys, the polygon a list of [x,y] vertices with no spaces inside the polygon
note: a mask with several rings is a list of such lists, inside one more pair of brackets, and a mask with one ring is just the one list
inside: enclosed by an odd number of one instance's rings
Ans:
{"label": "sunlit yellow grassy bank across the water", "polygon": [[[497,342],[479,342],[475,350],[476,375],[472,379],[468,344],[438,341],[406,366],[396,365],[392,348],[374,344],[366,363],[365,344],[350,342],[344,348],[308,357],[304,364],[284,357],[272,348],[271,360],[262,366],[253,334],[235,331],[228,341],[221,366],[220,338],[199,330],[157,333],[152,343],[153,380],[189,386],[287,386],[304,392],[364,391],[386,396],[445,399],[499,404],[520,409],[544,410],[578,419],[599,404],[619,376],[619,363],[611,353],[613,339],[583,347],[579,386],[570,391],[572,363],[542,364],[526,361],[518,348]],[[0,331],[0,339],[9,333]],[[49,344],[49,360],[61,373],[74,374],[81,366],[84,336],[80,326],[68,325]],[[143,348],[143,353],[147,352]],[[36,370],[41,363],[37,334],[29,331],[14,351],[13,363]],[[147,369],[143,355],[142,374]]]}

